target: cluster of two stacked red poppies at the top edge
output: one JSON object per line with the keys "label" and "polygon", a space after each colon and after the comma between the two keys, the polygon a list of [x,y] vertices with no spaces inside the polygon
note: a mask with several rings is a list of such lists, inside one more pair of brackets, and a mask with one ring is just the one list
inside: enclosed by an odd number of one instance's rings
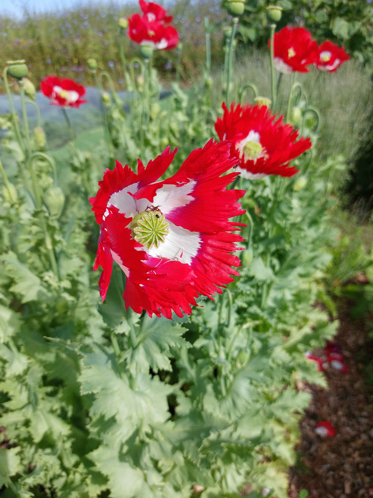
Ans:
{"label": "cluster of two stacked red poppies at the top edge", "polygon": [[170,26],[173,17],[166,9],[154,2],[139,0],[142,15],[136,13],[128,17],[128,36],[140,45],[148,45],[159,50],[171,50],[179,43],[177,29]]}

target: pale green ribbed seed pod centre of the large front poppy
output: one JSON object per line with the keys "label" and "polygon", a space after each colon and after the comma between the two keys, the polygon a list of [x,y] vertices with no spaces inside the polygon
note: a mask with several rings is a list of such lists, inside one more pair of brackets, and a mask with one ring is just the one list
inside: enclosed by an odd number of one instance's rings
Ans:
{"label": "pale green ribbed seed pod centre of the large front poppy", "polygon": [[170,230],[170,225],[161,211],[153,209],[154,211],[143,211],[136,215],[130,225],[132,237],[145,249],[151,249],[153,246],[158,248],[165,242]]}

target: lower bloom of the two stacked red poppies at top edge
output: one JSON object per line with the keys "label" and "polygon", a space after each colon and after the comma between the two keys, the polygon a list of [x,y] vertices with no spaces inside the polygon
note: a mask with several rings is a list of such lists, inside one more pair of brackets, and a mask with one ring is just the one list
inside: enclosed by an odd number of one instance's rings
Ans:
{"label": "lower bloom of the two stacked red poppies at top edge", "polygon": [[147,14],[128,17],[128,36],[140,45],[149,45],[159,50],[171,50],[179,43],[179,33],[163,21],[151,20]]}

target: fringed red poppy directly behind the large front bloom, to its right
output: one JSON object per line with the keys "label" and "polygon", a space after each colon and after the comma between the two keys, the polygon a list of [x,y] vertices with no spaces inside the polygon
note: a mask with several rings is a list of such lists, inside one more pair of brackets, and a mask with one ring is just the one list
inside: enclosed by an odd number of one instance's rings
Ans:
{"label": "fringed red poppy directly behind the large front bloom, to its right", "polygon": [[259,179],[266,175],[292,176],[298,172],[289,161],[311,147],[309,138],[298,138],[298,131],[284,124],[282,117],[271,114],[266,106],[223,103],[223,117],[215,130],[220,140],[233,144],[241,176]]}

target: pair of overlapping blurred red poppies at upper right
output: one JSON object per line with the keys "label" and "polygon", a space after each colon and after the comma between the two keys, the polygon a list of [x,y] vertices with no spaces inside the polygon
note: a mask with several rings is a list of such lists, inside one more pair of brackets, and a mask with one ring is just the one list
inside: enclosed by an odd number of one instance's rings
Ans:
{"label": "pair of overlapping blurred red poppies at upper right", "polygon": [[[270,45],[270,41],[268,42]],[[331,41],[319,46],[303,27],[284,27],[274,38],[274,66],[284,74],[306,73],[315,65],[321,71],[334,73],[349,59],[343,47]]]}

